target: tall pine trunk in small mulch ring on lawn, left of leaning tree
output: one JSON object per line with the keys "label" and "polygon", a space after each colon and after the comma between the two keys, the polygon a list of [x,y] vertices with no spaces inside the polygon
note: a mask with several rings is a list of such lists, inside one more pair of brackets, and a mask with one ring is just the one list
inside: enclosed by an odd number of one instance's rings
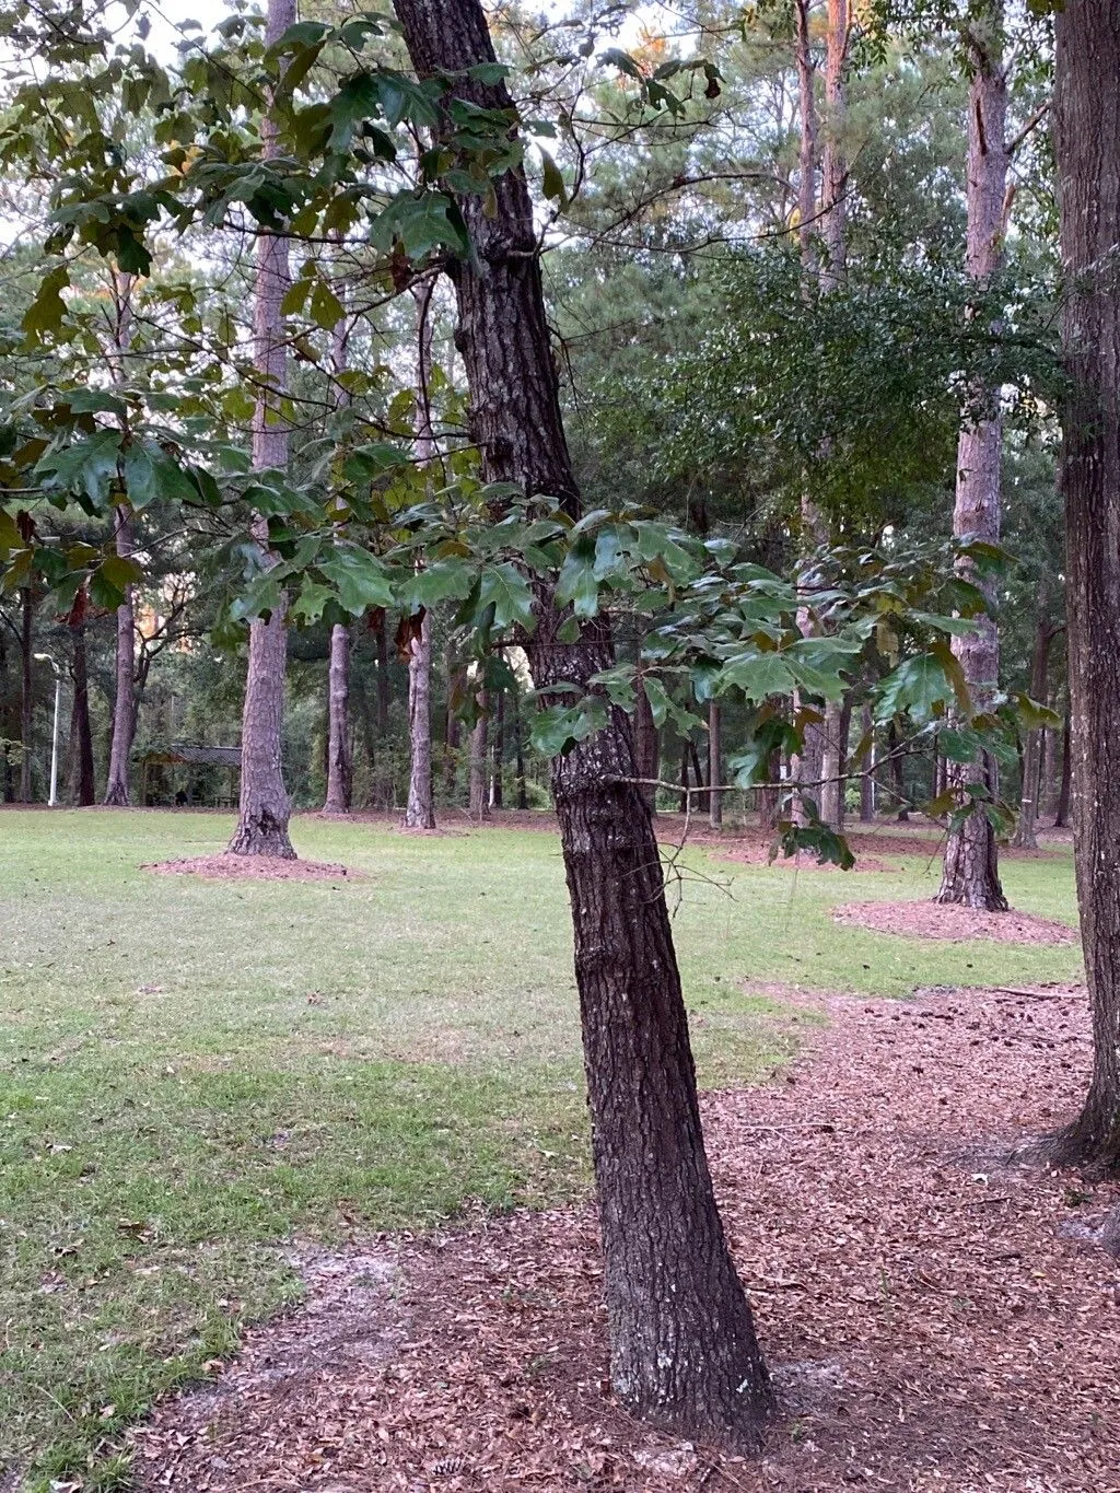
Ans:
{"label": "tall pine trunk in small mulch ring on lawn, left of leaning tree", "polygon": [[[272,45],[296,21],[296,0],[269,0],[266,45]],[[261,124],[263,154],[281,154],[276,127]],[[281,403],[288,379],[282,302],[288,288],[288,240],[263,233],[257,243],[257,293],[252,312],[254,369],[260,384],[252,418],[252,464],[257,470],[288,463],[288,427]],[[267,526],[254,533],[267,554]],[[266,621],[249,624],[249,672],[240,729],[240,817],[228,850],[234,855],[279,855],[294,860],[288,839],[291,800],[284,785],[281,738],[284,730],[284,681],[288,666],[287,599]]]}

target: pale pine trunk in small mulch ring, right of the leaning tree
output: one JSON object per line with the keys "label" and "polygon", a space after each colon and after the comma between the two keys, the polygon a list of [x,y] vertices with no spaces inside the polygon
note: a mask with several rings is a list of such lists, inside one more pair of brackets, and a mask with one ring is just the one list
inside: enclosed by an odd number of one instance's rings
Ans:
{"label": "pale pine trunk in small mulch ring, right of the leaning tree", "polygon": [[[1007,190],[1008,152],[1005,143],[1007,75],[1004,72],[999,31],[1002,0],[987,6],[983,22],[975,22],[969,34],[972,84],[968,107],[968,273],[986,285],[1004,258],[1004,197]],[[978,390],[984,400],[998,399],[993,390]],[[969,417],[957,440],[957,493],[953,506],[953,533],[999,540],[999,466],[1004,445],[1004,423],[998,412]],[[969,579],[978,579],[965,566]],[[989,605],[995,590],[978,581]],[[984,615],[977,629],[953,638],[953,652],[960,660],[965,681],[977,711],[989,708],[999,682],[999,633],[995,618]],[[989,752],[978,761],[953,763],[950,787],[966,793],[981,787],[986,796],[998,796],[996,763]],[[945,841],[945,864],[938,902],[963,903],[989,912],[1007,912],[1007,897],[999,884],[996,830],[978,803],[965,823],[951,830]]]}

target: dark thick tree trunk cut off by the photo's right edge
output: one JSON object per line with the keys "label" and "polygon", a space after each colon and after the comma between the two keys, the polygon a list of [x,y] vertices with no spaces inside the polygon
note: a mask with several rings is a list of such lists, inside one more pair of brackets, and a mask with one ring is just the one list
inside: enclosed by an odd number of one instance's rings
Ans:
{"label": "dark thick tree trunk cut off by the photo's right edge", "polygon": [[1074,863],[1093,1017],[1084,1109],[1060,1162],[1120,1171],[1120,0],[1056,16],[1056,158],[1069,376],[1060,485]]}

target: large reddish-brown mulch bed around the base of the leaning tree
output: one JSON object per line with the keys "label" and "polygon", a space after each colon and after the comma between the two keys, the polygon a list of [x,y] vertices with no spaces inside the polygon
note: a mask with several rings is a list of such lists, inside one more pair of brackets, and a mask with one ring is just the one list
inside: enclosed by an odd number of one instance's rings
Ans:
{"label": "large reddish-brown mulch bed around the base of the leaning tree", "polygon": [[[806,997],[787,997],[790,1020]],[[590,1206],[306,1250],[306,1305],[134,1433],[146,1493],[1120,1487],[1116,1184],[1012,1160],[1074,1111],[1080,991],[820,997],[766,1088],[705,1099],[783,1414],[760,1462],[606,1388]]]}

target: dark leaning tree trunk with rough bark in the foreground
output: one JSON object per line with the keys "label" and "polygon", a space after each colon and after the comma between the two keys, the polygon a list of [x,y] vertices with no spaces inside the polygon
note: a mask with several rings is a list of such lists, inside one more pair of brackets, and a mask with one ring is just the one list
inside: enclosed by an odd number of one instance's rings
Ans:
{"label": "dark leaning tree trunk with rough bark in the foreground", "polygon": [[[479,0],[396,0],[423,76],[493,63]],[[512,109],[503,84],[461,82]],[[485,481],[579,494],[560,417],[541,285],[538,228],[521,170],[460,203],[475,257],[449,267],[472,430]],[[539,585],[527,639],[544,699],[584,693],[614,663],[605,620],[561,640],[564,615]],[[747,1296],[708,1171],[681,976],[650,811],[636,784],[630,718],[553,760],[553,796],[575,929],[593,1156],[605,1253],[611,1375],[638,1415],[676,1435],[754,1447],[772,1406]]]}

